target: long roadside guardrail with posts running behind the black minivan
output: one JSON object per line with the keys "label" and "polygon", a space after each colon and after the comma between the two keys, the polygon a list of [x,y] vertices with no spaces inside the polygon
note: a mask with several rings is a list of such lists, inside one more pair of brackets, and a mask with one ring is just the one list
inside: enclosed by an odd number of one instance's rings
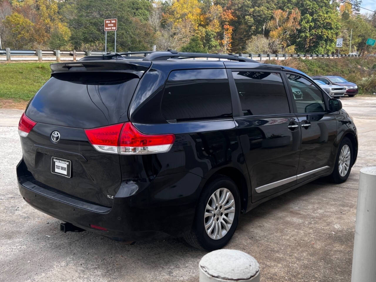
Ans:
{"label": "long roadside guardrail with posts running behind the black minivan", "polygon": [[[65,51],[65,50],[12,50],[9,48],[0,49],[0,61],[76,61],[89,55],[104,55],[104,51]],[[250,58],[259,61],[269,60],[287,60],[288,58],[342,58],[359,57],[360,55],[347,54],[236,54],[241,57]],[[373,56],[373,55],[370,55]]]}

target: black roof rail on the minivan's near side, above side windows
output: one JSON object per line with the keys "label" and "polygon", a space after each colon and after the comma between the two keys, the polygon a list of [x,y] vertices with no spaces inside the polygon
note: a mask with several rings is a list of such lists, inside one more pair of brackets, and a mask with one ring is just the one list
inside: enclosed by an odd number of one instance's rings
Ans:
{"label": "black roof rail on the minivan's near side, above side windows", "polygon": [[168,59],[188,59],[188,58],[215,58],[215,59],[227,59],[239,62],[253,62],[256,63],[255,60],[239,57],[238,55],[233,54],[205,54],[205,53],[185,53],[185,52],[177,52],[175,50],[169,51],[161,51],[161,52],[151,52],[147,55],[143,60],[144,61],[166,61]]}

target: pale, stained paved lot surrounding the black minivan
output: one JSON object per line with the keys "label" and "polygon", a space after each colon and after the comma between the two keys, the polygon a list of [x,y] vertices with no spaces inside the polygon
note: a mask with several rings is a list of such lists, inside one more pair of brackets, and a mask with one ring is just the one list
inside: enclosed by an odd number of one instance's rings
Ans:
{"label": "pale, stained paved lot surrounding the black minivan", "polygon": [[[376,97],[341,100],[359,133],[347,182],[319,180],[258,206],[226,246],[254,256],[263,282],[350,281],[359,170],[376,162]],[[0,109],[0,281],[198,281],[205,252],[181,239],[130,246],[64,234],[59,220],[24,202],[15,173],[21,113]]]}

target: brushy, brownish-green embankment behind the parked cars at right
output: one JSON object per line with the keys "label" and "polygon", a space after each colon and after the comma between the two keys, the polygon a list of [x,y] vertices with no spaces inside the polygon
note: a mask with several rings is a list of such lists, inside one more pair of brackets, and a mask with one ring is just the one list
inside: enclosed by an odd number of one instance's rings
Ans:
{"label": "brushy, brownish-green embankment behind the parked cars at right", "polygon": [[296,68],[309,76],[342,76],[359,86],[359,95],[376,92],[376,57],[340,59],[290,58],[287,61],[271,60],[266,62]]}

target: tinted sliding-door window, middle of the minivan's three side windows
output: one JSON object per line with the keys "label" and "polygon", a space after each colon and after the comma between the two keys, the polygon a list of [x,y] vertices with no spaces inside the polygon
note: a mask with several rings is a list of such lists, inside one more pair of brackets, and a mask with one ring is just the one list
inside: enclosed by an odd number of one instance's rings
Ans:
{"label": "tinted sliding-door window, middle of the minivan's three side windows", "polygon": [[279,73],[233,71],[244,115],[288,114],[287,95]]}

